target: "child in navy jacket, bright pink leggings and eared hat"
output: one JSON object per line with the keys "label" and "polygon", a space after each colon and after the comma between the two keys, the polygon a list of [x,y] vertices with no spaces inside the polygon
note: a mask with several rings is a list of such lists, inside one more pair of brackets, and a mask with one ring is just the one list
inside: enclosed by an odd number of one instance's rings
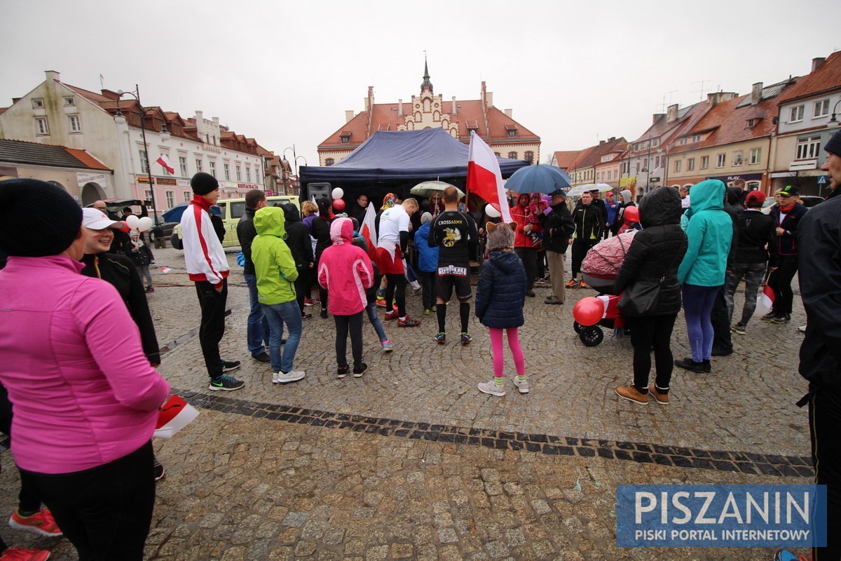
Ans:
{"label": "child in navy jacket, bright pink leggings and eared hat", "polygon": [[514,385],[521,394],[527,394],[529,387],[526,381],[526,361],[519,338],[519,328],[526,322],[523,315],[523,304],[526,303],[526,269],[514,252],[516,224],[489,222],[485,228],[488,231],[487,248],[490,258],[479,268],[476,316],[489,331],[491,353],[494,357],[494,379],[479,384],[479,391],[499,397],[505,395],[502,375],[502,332],[505,331],[517,371]]}

